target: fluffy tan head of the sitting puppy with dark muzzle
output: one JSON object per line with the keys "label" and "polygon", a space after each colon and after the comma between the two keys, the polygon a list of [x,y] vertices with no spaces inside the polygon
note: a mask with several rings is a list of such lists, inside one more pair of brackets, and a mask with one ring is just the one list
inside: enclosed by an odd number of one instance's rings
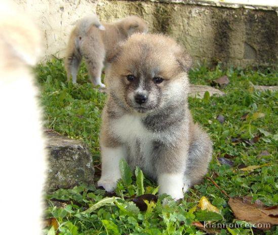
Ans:
{"label": "fluffy tan head of the sitting puppy with dark muzzle", "polygon": [[184,104],[191,59],[170,37],[133,34],[108,62],[109,93],[121,105],[146,113]]}

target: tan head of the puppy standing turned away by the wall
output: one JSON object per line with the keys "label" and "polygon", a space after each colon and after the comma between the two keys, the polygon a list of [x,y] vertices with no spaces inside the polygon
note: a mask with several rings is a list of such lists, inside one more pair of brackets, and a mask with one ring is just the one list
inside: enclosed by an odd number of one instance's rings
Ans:
{"label": "tan head of the puppy standing turned away by the wall", "polygon": [[131,36],[134,33],[147,33],[147,23],[138,16],[128,16],[119,21],[121,29],[127,36]]}

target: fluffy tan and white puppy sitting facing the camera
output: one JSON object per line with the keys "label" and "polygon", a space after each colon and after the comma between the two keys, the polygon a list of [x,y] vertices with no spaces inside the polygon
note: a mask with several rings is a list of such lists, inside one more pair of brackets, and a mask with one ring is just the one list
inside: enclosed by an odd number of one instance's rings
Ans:
{"label": "fluffy tan and white puppy sitting facing the camera", "polygon": [[98,186],[116,187],[125,158],[157,180],[160,194],[183,198],[212,157],[212,142],[188,109],[190,57],[167,36],[134,34],[108,61]]}

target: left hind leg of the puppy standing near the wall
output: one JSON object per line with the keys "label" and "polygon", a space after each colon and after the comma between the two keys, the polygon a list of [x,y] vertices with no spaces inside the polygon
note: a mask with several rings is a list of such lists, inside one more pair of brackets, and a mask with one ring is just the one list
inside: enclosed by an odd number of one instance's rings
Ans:
{"label": "left hind leg of the puppy standing near the wall", "polygon": [[67,81],[72,77],[72,83],[76,83],[77,73],[82,60],[82,55],[72,52],[65,58],[65,68],[67,72]]}

